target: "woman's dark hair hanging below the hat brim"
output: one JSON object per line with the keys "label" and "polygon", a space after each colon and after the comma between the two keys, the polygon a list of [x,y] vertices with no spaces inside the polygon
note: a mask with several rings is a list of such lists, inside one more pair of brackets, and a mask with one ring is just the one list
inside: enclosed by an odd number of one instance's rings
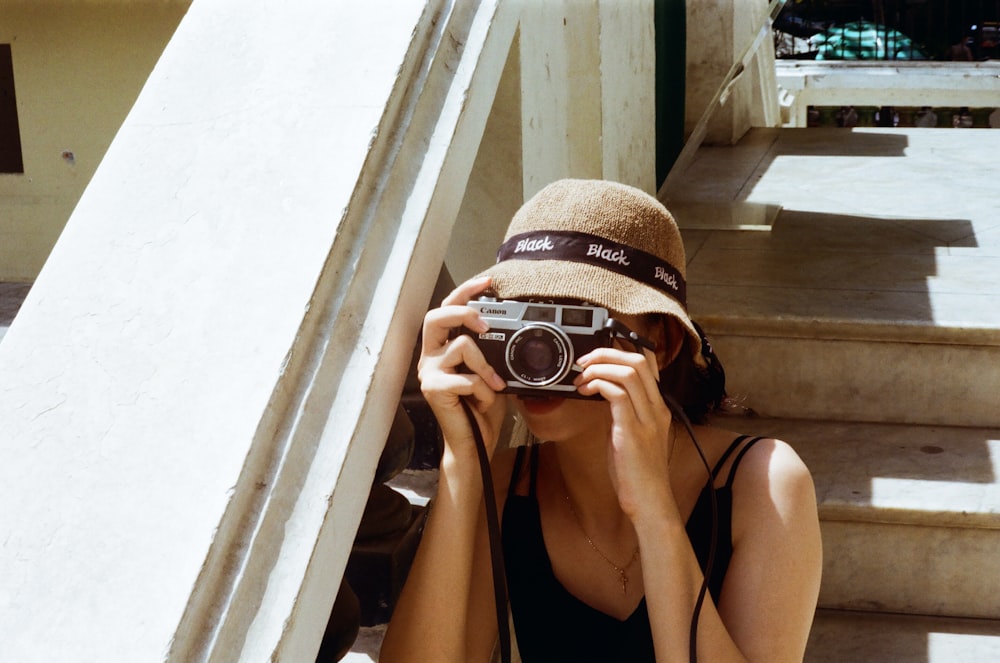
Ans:
{"label": "woman's dark hair hanging below the hat brim", "polygon": [[[671,327],[676,323],[670,318],[658,317],[661,324],[666,326],[669,338]],[[700,350],[706,367],[695,364],[693,357],[696,352],[690,347],[693,340],[688,334],[683,334],[681,351],[660,371],[660,393],[671,396],[691,423],[703,424],[708,415],[719,409],[726,400],[726,372],[704,331],[698,323],[695,322],[694,325],[701,337]]]}

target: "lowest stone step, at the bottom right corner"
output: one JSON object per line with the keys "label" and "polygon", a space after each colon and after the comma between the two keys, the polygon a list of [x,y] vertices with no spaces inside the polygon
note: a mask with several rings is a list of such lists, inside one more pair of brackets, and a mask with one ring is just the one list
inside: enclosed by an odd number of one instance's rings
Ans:
{"label": "lowest stone step, at the bottom right corner", "polygon": [[820,610],[804,663],[986,663],[1000,621]]}

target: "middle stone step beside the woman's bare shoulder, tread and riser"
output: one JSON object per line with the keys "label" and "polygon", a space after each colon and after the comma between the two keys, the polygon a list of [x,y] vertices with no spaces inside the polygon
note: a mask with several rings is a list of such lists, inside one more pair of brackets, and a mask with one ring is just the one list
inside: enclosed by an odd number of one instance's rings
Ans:
{"label": "middle stone step beside the woman's bare shoulder, tread and riser", "polygon": [[1000,615],[1000,429],[715,423],[783,439],[812,471],[823,531],[820,606]]}

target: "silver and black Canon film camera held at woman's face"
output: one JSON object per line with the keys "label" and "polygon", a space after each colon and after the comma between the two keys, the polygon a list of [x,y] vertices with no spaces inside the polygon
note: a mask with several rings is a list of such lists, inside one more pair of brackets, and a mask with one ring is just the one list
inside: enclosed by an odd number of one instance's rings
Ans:
{"label": "silver and black Canon film camera held at woman's face", "polygon": [[468,305],[490,328],[482,334],[464,332],[507,383],[505,393],[599,398],[581,396],[573,380],[580,371],[577,357],[611,344],[606,308],[488,297]]}

